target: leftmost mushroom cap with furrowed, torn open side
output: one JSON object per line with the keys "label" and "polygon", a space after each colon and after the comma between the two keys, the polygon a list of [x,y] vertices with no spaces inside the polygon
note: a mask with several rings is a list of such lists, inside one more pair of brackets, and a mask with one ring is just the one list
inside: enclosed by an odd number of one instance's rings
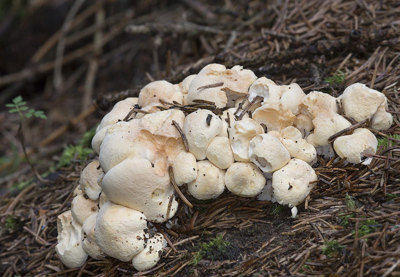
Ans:
{"label": "leftmost mushroom cap with furrowed, torn open side", "polygon": [[57,217],[57,245],[55,252],[67,268],[78,268],[83,266],[87,254],[83,251],[80,241],[80,230],[82,226],[77,223],[66,211]]}

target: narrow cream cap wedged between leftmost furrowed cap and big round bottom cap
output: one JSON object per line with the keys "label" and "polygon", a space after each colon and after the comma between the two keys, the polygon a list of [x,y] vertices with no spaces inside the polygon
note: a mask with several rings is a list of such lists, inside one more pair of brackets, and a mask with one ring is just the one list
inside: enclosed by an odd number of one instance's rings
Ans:
{"label": "narrow cream cap wedged between leftmost furrowed cap and big round bottom cap", "polygon": [[96,243],[95,229],[96,229],[97,213],[91,214],[82,225],[81,240],[82,248],[91,258],[98,260],[97,256],[103,255],[102,251]]}

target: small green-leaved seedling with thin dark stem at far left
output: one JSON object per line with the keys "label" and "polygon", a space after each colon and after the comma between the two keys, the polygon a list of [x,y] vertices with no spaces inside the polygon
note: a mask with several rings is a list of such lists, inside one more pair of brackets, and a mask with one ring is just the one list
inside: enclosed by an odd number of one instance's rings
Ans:
{"label": "small green-leaved seedling with thin dark stem at far left", "polygon": [[12,103],[5,104],[7,108],[10,110],[8,111],[9,113],[18,113],[19,115],[19,127],[18,127],[18,133],[17,137],[19,142],[22,145],[22,150],[23,150],[23,155],[25,156],[26,161],[29,163],[30,168],[32,169],[33,173],[36,175],[37,179],[39,179],[42,182],[45,182],[43,178],[41,178],[40,174],[36,171],[34,165],[30,162],[29,157],[26,153],[26,148],[25,148],[25,143],[22,137],[22,123],[26,118],[29,117],[37,117],[41,119],[47,119],[47,117],[44,115],[43,111],[36,111],[35,109],[29,109],[26,105],[25,101],[22,101],[22,96],[17,96],[14,99],[12,99]]}

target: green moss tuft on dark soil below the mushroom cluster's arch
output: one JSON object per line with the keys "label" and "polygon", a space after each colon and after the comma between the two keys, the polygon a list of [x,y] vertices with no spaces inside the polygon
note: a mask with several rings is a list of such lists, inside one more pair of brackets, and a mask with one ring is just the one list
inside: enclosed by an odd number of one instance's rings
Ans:
{"label": "green moss tuft on dark soil below the mushroom cluster's arch", "polygon": [[226,259],[226,254],[232,250],[234,251],[234,248],[230,245],[230,242],[223,240],[222,235],[217,235],[208,243],[200,244],[198,252],[194,254],[189,265],[196,266],[202,259],[211,261],[218,258]]}

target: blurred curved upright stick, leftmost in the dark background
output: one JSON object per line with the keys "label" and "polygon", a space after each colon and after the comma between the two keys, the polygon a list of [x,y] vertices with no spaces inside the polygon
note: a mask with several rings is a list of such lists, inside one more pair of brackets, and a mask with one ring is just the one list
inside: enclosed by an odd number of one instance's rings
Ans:
{"label": "blurred curved upright stick, leftmost in the dark background", "polygon": [[58,40],[57,48],[55,50],[55,62],[54,62],[54,76],[53,76],[53,85],[55,91],[59,92],[61,85],[62,85],[62,57],[64,56],[64,49],[65,49],[65,34],[69,30],[72,20],[75,17],[76,13],[78,12],[80,6],[83,4],[85,0],[75,0],[72,4],[68,14],[65,17],[65,21],[61,27],[61,38]]}

